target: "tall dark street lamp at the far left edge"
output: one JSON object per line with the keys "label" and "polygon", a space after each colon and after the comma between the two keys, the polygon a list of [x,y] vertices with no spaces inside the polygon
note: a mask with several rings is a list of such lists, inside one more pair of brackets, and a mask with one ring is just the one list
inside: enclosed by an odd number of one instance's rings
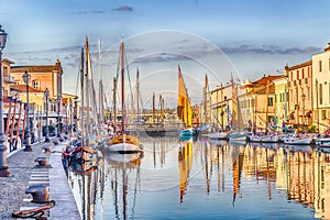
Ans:
{"label": "tall dark street lamp at the far left edge", "polygon": [[4,145],[4,135],[3,135],[3,112],[2,112],[2,85],[3,85],[3,75],[2,75],[2,50],[6,46],[7,33],[2,30],[0,25],[0,177],[9,177],[11,174],[8,170],[7,166],[7,146]]}

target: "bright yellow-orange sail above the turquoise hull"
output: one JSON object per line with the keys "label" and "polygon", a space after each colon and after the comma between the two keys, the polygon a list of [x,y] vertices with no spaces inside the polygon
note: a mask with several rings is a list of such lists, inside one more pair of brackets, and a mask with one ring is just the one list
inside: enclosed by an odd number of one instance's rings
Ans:
{"label": "bright yellow-orange sail above the turquoise hull", "polygon": [[184,77],[178,66],[178,99],[177,99],[177,114],[178,118],[186,124],[187,128],[193,125],[193,110],[188,91],[184,81]]}

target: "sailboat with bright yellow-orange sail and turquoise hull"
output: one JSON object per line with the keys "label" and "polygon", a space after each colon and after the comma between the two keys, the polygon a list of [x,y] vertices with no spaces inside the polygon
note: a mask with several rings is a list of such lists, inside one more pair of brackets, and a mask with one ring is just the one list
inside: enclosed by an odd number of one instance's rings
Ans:
{"label": "sailboat with bright yellow-orange sail and turquoise hull", "polygon": [[196,131],[193,128],[193,110],[180,66],[178,66],[177,114],[184,122],[184,129],[179,131],[179,136],[183,139],[193,138],[193,135],[196,134]]}

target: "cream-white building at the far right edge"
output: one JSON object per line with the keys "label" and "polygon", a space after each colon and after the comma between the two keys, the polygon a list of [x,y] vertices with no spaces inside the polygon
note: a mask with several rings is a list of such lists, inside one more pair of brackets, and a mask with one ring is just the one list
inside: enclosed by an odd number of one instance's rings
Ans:
{"label": "cream-white building at the far right edge", "polygon": [[324,52],[312,55],[311,63],[315,124],[322,132],[330,125],[330,43]]}

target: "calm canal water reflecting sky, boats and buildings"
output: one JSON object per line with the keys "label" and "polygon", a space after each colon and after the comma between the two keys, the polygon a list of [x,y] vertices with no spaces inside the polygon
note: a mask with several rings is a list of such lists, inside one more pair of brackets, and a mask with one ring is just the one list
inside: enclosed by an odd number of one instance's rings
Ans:
{"label": "calm canal water reflecting sky, boats and buildings", "polygon": [[68,182],[82,219],[330,219],[330,154],[310,146],[141,139]]}

